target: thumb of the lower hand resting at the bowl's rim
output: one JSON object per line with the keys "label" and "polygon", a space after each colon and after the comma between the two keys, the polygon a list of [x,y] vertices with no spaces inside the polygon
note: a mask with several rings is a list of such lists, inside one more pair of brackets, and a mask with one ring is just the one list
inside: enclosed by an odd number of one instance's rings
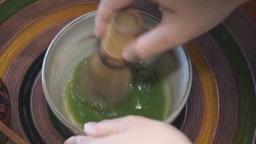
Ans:
{"label": "thumb of the lower hand resting at the bowl's rim", "polygon": [[103,120],[101,122],[88,122],[84,124],[84,132],[90,137],[102,137],[116,134],[124,129],[121,118]]}

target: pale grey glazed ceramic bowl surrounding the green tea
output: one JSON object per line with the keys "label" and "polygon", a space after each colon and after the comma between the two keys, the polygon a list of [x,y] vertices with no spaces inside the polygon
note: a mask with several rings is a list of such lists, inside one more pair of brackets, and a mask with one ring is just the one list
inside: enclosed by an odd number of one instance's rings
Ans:
{"label": "pale grey glazed ceramic bowl surrounding the green tea", "polygon": [[[74,67],[98,46],[94,36],[97,11],[76,18],[65,26],[50,44],[42,66],[42,86],[46,100],[56,117],[73,134],[84,134],[70,118],[64,101],[64,88]],[[159,19],[140,12],[146,29],[152,29]],[[179,46],[151,59],[160,74],[166,75],[167,87],[172,89],[168,101],[171,107],[165,122],[171,123],[182,111],[192,83],[192,66],[186,48]]]}

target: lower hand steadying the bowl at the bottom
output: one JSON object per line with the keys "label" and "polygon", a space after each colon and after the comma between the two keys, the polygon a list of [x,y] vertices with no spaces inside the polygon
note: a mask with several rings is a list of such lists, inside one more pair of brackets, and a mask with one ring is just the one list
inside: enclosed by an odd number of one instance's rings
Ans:
{"label": "lower hand steadying the bowl at the bottom", "polygon": [[84,132],[87,136],[72,136],[64,144],[191,144],[174,126],[142,116],[88,122]]}

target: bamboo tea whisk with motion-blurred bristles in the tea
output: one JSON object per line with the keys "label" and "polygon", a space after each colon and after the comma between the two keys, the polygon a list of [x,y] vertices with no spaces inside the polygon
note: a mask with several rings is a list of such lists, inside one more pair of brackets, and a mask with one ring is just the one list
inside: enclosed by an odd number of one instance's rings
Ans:
{"label": "bamboo tea whisk with motion-blurred bristles in the tea", "polygon": [[104,110],[120,103],[128,95],[132,73],[122,58],[124,47],[144,30],[142,17],[134,9],[115,12],[81,76],[85,97],[91,106]]}

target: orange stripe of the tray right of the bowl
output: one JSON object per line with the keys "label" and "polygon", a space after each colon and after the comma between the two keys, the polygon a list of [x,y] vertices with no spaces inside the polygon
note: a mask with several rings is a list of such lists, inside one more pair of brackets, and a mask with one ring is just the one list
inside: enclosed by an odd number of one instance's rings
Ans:
{"label": "orange stripe of the tray right of the bowl", "polygon": [[[200,51],[192,42],[186,44],[192,63],[198,72],[203,91],[203,116],[200,131],[195,140],[198,144],[210,143],[218,120],[218,94],[211,70]],[[198,96],[200,97],[200,96]]]}

